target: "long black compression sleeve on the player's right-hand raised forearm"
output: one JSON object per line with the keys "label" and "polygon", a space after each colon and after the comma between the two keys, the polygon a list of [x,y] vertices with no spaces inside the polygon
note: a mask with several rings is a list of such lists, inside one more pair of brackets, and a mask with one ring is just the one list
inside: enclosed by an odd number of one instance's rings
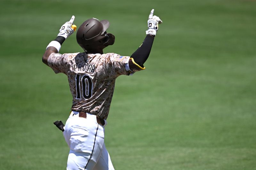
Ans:
{"label": "long black compression sleeve on the player's right-hand raised forearm", "polygon": [[148,59],[154,38],[155,36],[153,35],[147,35],[141,46],[131,55],[131,58],[133,58],[134,62],[139,64],[140,67],[144,67],[143,64]]}

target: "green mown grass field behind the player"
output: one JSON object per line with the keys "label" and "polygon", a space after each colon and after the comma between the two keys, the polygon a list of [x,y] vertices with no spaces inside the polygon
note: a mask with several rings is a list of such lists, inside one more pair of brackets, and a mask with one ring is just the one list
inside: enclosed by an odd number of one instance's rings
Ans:
{"label": "green mown grass field behind the player", "polygon": [[[42,63],[75,15],[108,19],[104,52],[131,55],[163,20],[146,70],[116,79],[105,144],[116,170],[256,169],[256,1],[1,0],[0,169],[61,170],[72,96]],[[60,53],[82,52],[76,33]]]}

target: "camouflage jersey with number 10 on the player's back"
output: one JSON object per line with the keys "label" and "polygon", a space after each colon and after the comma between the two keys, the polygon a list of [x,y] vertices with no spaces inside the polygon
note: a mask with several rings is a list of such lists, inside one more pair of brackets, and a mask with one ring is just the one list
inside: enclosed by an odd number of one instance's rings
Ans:
{"label": "camouflage jersey with number 10 on the player's back", "polygon": [[129,75],[129,56],[115,53],[88,54],[52,53],[48,65],[57,73],[68,76],[73,96],[71,110],[82,111],[107,119],[115,80],[120,75]]}

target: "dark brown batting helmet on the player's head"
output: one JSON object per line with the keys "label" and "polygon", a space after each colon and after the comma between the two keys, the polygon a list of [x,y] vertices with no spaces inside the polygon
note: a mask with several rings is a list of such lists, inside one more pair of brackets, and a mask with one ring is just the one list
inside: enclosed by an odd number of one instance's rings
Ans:
{"label": "dark brown batting helmet on the player's head", "polygon": [[96,18],[91,18],[78,28],[76,33],[77,43],[84,51],[99,51],[108,45],[113,45],[115,36],[107,33],[109,27],[108,20],[99,21]]}

